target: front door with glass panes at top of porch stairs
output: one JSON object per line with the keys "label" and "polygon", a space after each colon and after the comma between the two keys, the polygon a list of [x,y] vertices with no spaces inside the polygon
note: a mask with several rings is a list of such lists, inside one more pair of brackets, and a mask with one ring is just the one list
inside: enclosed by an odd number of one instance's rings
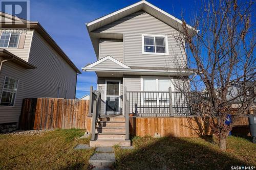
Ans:
{"label": "front door with glass panes at top of porch stairs", "polygon": [[119,114],[120,81],[106,81],[106,114]]}

